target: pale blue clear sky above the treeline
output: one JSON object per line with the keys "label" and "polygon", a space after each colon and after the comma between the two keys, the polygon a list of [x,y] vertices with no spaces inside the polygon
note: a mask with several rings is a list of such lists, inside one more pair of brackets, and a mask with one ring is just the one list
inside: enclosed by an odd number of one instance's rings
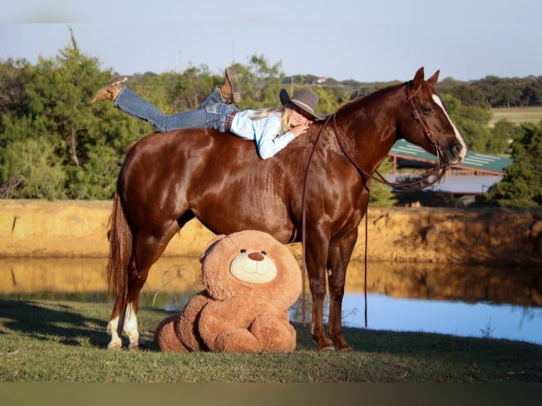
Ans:
{"label": "pale blue clear sky above the treeline", "polygon": [[71,27],[83,54],[120,75],[222,73],[255,54],[287,76],[338,81],[405,81],[420,66],[441,80],[542,75],[540,0],[6,3],[0,60],[55,57]]}

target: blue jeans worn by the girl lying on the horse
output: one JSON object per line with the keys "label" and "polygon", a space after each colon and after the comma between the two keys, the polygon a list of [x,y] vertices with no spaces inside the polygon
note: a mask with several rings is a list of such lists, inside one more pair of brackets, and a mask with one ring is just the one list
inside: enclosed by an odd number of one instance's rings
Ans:
{"label": "blue jeans worn by the girl lying on the horse", "polygon": [[117,95],[113,105],[132,117],[151,123],[158,132],[187,128],[212,128],[224,132],[226,117],[231,112],[238,111],[238,108],[224,103],[225,101],[216,86],[196,110],[164,115],[155,105],[125,87]]}

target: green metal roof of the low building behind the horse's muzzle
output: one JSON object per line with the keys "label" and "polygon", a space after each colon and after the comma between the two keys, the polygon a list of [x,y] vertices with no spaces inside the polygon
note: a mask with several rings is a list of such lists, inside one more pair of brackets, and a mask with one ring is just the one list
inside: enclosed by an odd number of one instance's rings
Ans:
{"label": "green metal roof of the low building behind the horse's muzzle", "polygon": [[[393,147],[388,155],[396,156],[398,158],[411,159],[414,161],[437,162],[436,156],[425,151],[425,149],[422,149],[420,146],[410,144],[410,142],[405,141],[404,139],[400,139],[393,144]],[[470,169],[483,173],[502,175],[504,174],[504,168],[513,162],[514,160],[511,158],[490,155],[488,153],[467,151],[465,160],[459,165],[454,165],[454,168]]]}

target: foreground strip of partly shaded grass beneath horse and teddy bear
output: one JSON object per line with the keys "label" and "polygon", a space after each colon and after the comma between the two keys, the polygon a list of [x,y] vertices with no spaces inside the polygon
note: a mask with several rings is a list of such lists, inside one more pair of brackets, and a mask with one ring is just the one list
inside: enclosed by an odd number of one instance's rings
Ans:
{"label": "foreground strip of partly shaded grass beneath horse and teddy bear", "polygon": [[110,352],[110,308],[54,300],[0,301],[4,383],[542,382],[542,346],[491,338],[345,328],[353,352],[318,352],[295,325],[290,354],[161,353],[152,342],[166,311],[139,312],[149,351]]}

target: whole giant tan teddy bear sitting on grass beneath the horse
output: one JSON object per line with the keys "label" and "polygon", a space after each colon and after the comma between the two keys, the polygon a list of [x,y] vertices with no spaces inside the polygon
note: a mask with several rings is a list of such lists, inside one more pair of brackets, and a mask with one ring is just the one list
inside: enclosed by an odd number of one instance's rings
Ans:
{"label": "whole giant tan teddy bear sitting on grass beneath the horse", "polygon": [[164,352],[292,352],[288,308],[301,292],[292,253],[270,234],[247,230],[212,239],[202,262],[204,291],[154,333]]}

